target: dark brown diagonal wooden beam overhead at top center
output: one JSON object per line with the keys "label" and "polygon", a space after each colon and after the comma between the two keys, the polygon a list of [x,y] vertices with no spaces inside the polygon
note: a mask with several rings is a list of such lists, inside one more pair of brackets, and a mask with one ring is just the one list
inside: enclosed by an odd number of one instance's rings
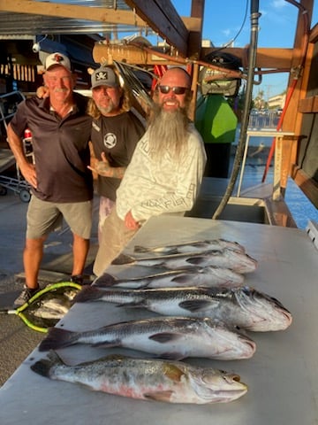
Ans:
{"label": "dark brown diagonal wooden beam overhead at top center", "polygon": [[189,32],[170,0],[125,0],[125,3],[186,58]]}

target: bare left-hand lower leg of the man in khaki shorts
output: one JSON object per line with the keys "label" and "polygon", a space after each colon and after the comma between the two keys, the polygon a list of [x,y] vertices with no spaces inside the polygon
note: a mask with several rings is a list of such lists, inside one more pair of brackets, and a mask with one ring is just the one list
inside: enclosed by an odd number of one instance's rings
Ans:
{"label": "bare left-hand lower leg of the man in khaki shorts", "polygon": [[46,236],[39,239],[26,239],[23,251],[23,264],[26,274],[26,285],[30,289],[38,288],[38,275],[43,258],[43,243]]}

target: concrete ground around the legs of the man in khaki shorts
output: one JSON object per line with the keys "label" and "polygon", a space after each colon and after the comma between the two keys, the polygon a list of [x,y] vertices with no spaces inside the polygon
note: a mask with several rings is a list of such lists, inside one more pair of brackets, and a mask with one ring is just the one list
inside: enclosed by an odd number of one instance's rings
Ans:
{"label": "concrete ground around the legs of the man in khaki shorts", "polygon": [[[94,217],[97,220],[95,202]],[[0,196],[0,310],[11,309],[23,285],[22,251],[26,231],[27,204],[11,190]],[[87,276],[91,273],[97,249],[96,221],[92,246],[87,259]],[[40,283],[58,282],[71,273],[72,233],[65,227],[51,234],[44,249]],[[37,332],[15,314],[0,314],[0,386],[40,343],[45,334]]]}

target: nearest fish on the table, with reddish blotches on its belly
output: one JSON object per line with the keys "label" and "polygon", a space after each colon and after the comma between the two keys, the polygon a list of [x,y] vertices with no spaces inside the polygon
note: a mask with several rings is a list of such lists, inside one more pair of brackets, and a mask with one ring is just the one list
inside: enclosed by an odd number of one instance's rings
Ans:
{"label": "nearest fish on the table, with reddish blotches on its belly", "polygon": [[167,403],[227,403],[244,396],[248,390],[237,374],[178,360],[108,356],[69,366],[57,352],[50,351],[47,358],[37,360],[30,367],[38,375],[83,384],[90,390]]}

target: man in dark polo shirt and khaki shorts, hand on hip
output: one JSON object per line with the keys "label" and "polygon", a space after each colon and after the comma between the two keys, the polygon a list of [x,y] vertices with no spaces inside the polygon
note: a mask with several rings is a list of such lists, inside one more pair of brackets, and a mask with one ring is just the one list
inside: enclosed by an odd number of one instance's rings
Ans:
{"label": "man in dark polo shirt and khaki shorts, hand on hip", "polygon": [[[87,99],[73,92],[76,77],[69,58],[61,53],[48,56],[43,80],[49,97],[19,104],[8,126],[11,151],[33,192],[23,254],[26,284],[15,306],[39,290],[43,243],[63,218],[73,235],[72,280],[81,282],[92,226],[93,182],[87,169],[92,120],[86,113]],[[34,164],[21,142],[26,128],[32,133]]]}

